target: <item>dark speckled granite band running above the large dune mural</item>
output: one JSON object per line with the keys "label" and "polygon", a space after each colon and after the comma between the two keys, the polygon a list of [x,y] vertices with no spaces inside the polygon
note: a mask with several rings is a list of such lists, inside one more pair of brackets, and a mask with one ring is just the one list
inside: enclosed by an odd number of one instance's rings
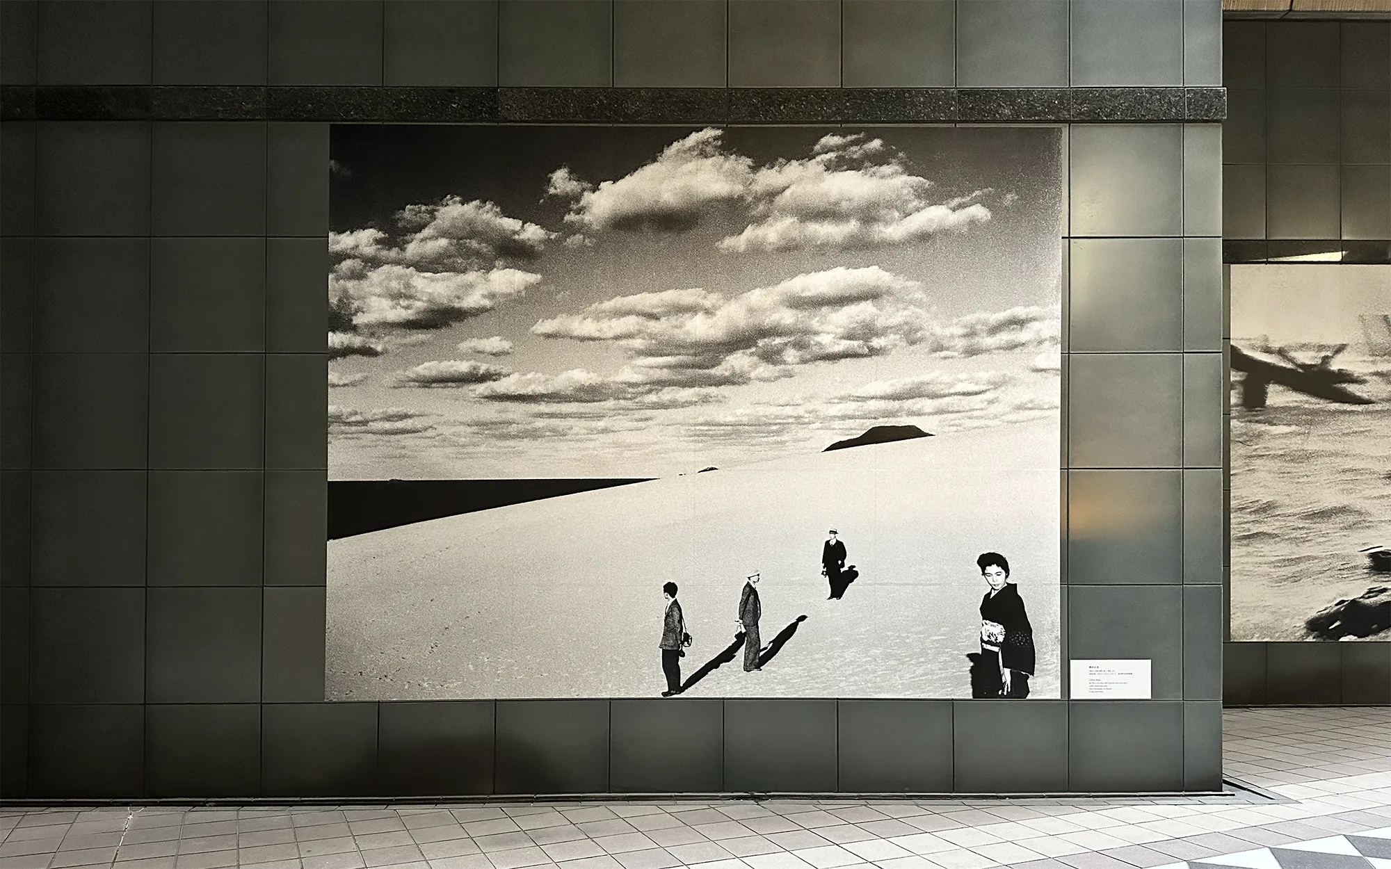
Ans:
{"label": "dark speckled granite band running above the large dune mural", "polygon": [[1224,88],[0,88],[6,121],[974,124],[1225,117]]}

